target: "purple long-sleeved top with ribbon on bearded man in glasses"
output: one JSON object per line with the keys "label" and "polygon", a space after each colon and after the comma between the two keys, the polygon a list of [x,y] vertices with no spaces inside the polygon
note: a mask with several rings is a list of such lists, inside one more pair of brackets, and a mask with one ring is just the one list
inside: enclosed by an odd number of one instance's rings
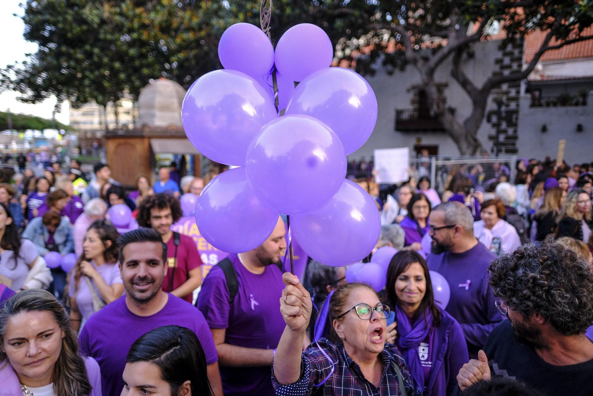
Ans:
{"label": "purple long-sleeved top with ribbon on bearded man in glasses", "polygon": [[488,334],[503,319],[488,286],[487,268],[494,259],[496,255],[479,242],[463,253],[430,254],[426,258],[428,268],[443,275],[451,287],[445,311],[461,325],[473,359],[477,359]]}

